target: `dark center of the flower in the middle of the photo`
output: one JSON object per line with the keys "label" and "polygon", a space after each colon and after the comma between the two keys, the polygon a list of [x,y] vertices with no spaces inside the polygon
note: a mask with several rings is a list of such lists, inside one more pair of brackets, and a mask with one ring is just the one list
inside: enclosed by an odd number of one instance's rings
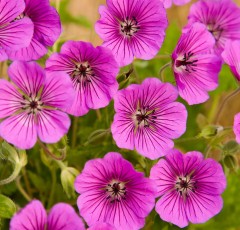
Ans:
{"label": "dark center of the flower in the middle of the photo", "polygon": [[157,116],[155,116],[154,114],[155,114],[155,109],[149,110],[149,106],[138,109],[135,115],[137,125],[149,127],[150,124],[155,123],[155,119],[157,119]]}

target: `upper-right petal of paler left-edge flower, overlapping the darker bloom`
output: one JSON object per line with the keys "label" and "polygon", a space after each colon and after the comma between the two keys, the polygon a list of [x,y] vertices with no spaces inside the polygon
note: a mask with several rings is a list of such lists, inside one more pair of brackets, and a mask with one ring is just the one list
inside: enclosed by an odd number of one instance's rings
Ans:
{"label": "upper-right petal of paler left-edge flower, overlapping the darker bloom", "polygon": [[74,89],[66,73],[47,72],[41,100],[44,105],[66,111],[72,104]]}

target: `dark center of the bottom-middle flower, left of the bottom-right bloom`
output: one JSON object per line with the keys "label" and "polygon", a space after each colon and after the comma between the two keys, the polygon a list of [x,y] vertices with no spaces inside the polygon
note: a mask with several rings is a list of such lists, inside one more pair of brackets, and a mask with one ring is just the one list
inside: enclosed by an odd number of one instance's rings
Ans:
{"label": "dark center of the bottom-middle flower, left of the bottom-right bloom", "polygon": [[107,198],[110,199],[110,203],[114,203],[115,201],[120,202],[122,199],[126,199],[126,187],[123,182],[113,181],[107,185]]}

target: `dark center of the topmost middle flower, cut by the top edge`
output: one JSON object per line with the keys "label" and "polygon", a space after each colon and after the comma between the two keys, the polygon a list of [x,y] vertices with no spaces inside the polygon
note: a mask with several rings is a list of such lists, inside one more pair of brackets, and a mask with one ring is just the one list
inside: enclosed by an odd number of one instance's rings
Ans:
{"label": "dark center of the topmost middle flower, cut by the top edge", "polygon": [[132,19],[126,17],[126,19],[121,22],[121,32],[127,37],[132,37],[139,29],[140,26],[135,17],[132,17]]}

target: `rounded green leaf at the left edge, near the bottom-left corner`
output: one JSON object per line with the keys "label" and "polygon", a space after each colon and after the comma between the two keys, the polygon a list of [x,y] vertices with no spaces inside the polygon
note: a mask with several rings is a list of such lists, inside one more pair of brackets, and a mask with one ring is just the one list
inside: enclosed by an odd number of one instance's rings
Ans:
{"label": "rounded green leaf at the left edge, near the bottom-left corner", "polygon": [[10,219],[17,211],[16,205],[8,197],[0,194],[0,218]]}

